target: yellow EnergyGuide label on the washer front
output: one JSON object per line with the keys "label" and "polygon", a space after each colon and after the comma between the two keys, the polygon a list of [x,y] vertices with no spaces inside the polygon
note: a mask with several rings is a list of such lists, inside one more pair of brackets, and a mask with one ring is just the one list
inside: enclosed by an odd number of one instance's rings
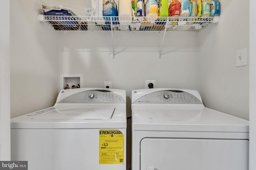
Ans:
{"label": "yellow EnergyGuide label on the washer front", "polygon": [[118,129],[100,130],[100,164],[124,162],[124,134]]}

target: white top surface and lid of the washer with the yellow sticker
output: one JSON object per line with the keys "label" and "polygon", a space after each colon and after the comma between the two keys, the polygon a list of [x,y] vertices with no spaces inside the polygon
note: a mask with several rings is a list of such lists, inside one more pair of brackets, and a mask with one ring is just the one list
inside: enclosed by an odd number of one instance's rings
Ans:
{"label": "white top surface and lid of the washer with the yellow sticker", "polygon": [[11,119],[11,129],[126,128],[125,106],[49,107]]}

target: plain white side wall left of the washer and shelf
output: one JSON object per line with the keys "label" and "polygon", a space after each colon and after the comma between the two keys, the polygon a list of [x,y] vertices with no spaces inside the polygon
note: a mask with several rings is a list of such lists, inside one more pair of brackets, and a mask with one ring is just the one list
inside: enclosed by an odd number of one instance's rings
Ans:
{"label": "plain white side wall left of the washer and shelf", "polygon": [[34,0],[10,1],[11,117],[53,106],[58,95],[58,39],[40,23]]}

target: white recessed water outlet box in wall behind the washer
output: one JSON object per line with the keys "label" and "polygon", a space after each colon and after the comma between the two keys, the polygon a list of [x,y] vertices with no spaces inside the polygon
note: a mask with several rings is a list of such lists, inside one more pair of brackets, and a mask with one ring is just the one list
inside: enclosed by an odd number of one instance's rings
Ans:
{"label": "white recessed water outlet box in wall behind the washer", "polygon": [[68,84],[69,88],[71,89],[72,86],[80,85],[80,88],[84,87],[84,75],[83,74],[61,74],[60,75],[60,90],[66,88]]}

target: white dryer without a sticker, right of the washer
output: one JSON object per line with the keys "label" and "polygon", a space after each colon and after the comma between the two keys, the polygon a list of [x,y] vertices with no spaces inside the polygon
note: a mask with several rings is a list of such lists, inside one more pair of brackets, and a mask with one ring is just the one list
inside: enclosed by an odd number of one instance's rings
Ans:
{"label": "white dryer without a sticker, right of the washer", "polygon": [[184,89],[132,91],[132,170],[248,170],[249,122]]}

